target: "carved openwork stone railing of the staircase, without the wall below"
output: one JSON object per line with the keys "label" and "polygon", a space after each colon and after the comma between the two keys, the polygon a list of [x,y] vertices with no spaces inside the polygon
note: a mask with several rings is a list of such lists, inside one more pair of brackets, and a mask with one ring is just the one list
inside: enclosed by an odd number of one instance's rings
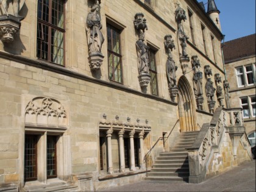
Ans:
{"label": "carved openwork stone railing of the staircase, without the wall below", "polygon": [[[207,169],[213,158],[213,153],[221,146],[222,138],[228,132],[232,140],[233,157],[236,158],[240,138],[246,134],[243,126],[242,109],[216,109],[212,121],[203,124],[196,141],[188,150],[190,166],[190,183],[200,183],[206,179]],[[247,146],[247,140],[243,140]]]}

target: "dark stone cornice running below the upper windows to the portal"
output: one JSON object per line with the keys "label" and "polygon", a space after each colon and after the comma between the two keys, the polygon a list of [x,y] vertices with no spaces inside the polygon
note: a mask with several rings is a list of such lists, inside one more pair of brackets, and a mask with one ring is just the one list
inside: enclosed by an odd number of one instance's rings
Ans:
{"label": "dark stone cornice running below the upper windows to the portal", "polygon": [[45,62],[43,60],[29,59],[29,58],[23,57],[21,55],[13,55],[13,54],[9,54],[7,52],[2,52],[2,51],[0,51],[0,58],[12,60],[13,62],[22,63],[24,65],[29,65],[29,66],[34,66],[36,68],[41,68],[41,69],[44,69],[47,71],[52,71],[57,74],[63,74],[65,76],[74,77],[74,78],[85,80],[87,82],[91,82],[94,84],[102,85],[105,87],[115,88],[116,90],[121,90],[121,91],[125,91],[127,93],[132,93],[132,94],[137,94],[138,96],[142,96],[144,98],[154,99],[156,101],[164,102],[169,105],[177,106],[176,102],[172,102],[167,99],[163,99],[158,96],[154,96],[152,94],[142,93],[140,91],[124,87],[124,85],[114,84],[112,82],[106,82],[101,79],[94,79],[93,77],[88,77],[88,76],[85,76],[84,74],[70,71],[69,69],[66,69],[64,66],[55,65],[55,64],[52,64],[49,62]]}

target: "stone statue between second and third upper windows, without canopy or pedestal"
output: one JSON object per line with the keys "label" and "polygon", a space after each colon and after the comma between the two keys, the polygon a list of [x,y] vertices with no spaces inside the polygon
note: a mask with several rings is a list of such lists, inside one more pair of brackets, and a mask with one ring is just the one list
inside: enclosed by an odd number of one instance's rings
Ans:
{"label": "stone statue between second and third upper windows, without canopy or pedestal", "polygon": [[136,41],[136,49],[139,59],[139,73],[149,73],[149,46],[144,43],[144,34]]}

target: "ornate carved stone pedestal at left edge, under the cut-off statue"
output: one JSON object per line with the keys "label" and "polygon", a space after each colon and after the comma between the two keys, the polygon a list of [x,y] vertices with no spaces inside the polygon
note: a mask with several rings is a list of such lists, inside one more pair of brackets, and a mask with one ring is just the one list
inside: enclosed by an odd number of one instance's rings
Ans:
{"label": "ornate carved stone pedestal at left edge, under the cut-off statue", "polygon": [[0,16],[0,38],[2,43],[12,43],[15,35],[20,30],[21,22],[13,15]]}

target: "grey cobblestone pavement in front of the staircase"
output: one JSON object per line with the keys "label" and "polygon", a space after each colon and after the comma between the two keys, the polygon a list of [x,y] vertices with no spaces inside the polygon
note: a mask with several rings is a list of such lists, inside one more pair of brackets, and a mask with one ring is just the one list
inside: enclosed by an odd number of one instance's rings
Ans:
{"label": "grey cobblestone pavement in front of the staircase", "polygon": [[202,183],[143,180],[102,191],[256,191],[255,163],[236,166]]}

